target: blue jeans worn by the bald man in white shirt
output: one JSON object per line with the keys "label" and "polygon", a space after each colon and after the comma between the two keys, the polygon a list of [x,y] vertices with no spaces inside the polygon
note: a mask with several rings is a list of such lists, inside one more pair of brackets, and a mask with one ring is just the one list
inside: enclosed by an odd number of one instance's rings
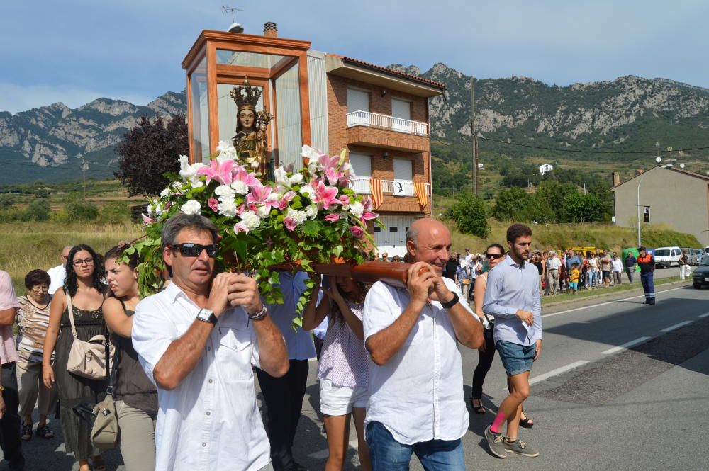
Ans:
{"label": "blue jeans worn by the bald man in white shirt", "polygon": [[465,471],[465,456],[460,439],[402,445],[380,422],[369,422],[365,436],[373,471],[408,471],[412,453],[416,454],[426,471]]}

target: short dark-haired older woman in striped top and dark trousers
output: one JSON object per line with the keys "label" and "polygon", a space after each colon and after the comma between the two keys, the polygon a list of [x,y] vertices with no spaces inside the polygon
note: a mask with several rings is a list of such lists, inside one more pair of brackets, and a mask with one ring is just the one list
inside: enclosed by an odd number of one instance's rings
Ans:
{"label": "short dark-haired older woman in striped top and dark trousers", "polygon": [[20,416],[23,419],[23,441],[32,438],[32,411],[39,396],[40,421],[37,436],[52,438],[54,432],[47,425],[47,416],[57,404],[56,390],[49,389],[42,380],[44,339],[49,325],[49,305],[52,295],[48,293],[50,276],[46,271],[33,270],[25,276],[27,295],[17,298],[16,348],[20,361],[16,363],[20,385]]}

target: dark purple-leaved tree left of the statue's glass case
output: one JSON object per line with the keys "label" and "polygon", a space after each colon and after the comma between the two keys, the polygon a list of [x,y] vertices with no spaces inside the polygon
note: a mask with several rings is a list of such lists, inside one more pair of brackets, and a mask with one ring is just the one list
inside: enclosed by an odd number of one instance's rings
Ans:
{"label": "dark purple-leaved tree left of the statue's glass case", "polygon": [[116,178],[128,186],[131,196],[157,195],[169,183],[164,174],[177,173],[177,158],[187,152],[187,125],[183,113],[173,115],[167,125],[160,116],[151,123],[143,115],[116,146],[116,154],[120,157]]}

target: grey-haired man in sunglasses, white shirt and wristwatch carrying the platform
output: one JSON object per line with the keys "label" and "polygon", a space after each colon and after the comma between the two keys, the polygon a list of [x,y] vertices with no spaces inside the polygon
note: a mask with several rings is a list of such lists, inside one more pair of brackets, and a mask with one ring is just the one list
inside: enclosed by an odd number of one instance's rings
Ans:
{"label": "grey-haired man in sunglasses, white shirt and wristwatch carrying the platform", "polygon": [[179,213],[162,229],[172,276],[133,316],[133,346],[157,385],[156,471],[271,470],[252,364],[273,376],[286,346],[250,276],[215,273],[217,228]]}

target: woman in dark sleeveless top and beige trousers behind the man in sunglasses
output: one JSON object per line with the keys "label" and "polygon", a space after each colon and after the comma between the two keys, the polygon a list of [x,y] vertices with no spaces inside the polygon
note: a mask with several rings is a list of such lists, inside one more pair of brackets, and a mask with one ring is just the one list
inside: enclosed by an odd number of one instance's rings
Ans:
{"label": "woman in dark sleeveless top and beige trousers behind the man in sunglasses", "polygon": [[118,418],[118,441],[127,471],[155,470],[155,421],[157,419],[157,389],[138,363],[130,332],[133,312],[138,305],[138,254],[128,261],[119,261],[127,245],[106,252],[106,280],[113,296],[104,301],[104,316],[108,330],[117,344],[113,399]]}

